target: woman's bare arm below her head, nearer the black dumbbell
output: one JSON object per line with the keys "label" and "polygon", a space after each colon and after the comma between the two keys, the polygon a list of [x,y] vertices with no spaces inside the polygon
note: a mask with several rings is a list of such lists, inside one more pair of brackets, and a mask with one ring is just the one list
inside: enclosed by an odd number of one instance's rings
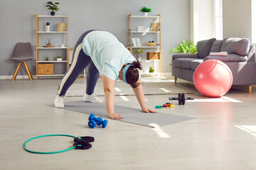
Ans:
{"label": "woman's bare arm below her head, nearer the black dumbbell", "polygon": [[134,91],[134,94],[137,96],[137,100],[139,101],[139,105],[142,107],[142,111],[146,113],[157,113],[157,111],[153,111],[149,108],[146,108],[146,101],[145,101],[141,80],[137,81],[137,84],[138,83],[139,83],[139,86],[137,86],[136,88],[132,87],[132,89]]}

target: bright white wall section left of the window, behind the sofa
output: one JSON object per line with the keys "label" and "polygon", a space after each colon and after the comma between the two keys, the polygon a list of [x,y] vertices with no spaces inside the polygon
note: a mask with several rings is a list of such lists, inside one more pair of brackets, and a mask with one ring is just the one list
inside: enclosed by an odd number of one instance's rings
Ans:
{"label": "bright white wall section left of the window, behind the sofa", "polygon": [[191,40],[213,37],[213,0],[191,0]]}

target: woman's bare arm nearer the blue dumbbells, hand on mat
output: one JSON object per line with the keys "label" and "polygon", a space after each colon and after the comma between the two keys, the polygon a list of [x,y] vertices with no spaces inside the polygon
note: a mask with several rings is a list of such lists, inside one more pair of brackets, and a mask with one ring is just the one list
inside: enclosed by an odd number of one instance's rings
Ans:
{"label": "woman's bare arm nearer the blue dumbbells, hand on mat", "polygon": [[121,115],[114,113],[114,80],[102,75],[102,84],[108,116],[112,119],[122,119]]}

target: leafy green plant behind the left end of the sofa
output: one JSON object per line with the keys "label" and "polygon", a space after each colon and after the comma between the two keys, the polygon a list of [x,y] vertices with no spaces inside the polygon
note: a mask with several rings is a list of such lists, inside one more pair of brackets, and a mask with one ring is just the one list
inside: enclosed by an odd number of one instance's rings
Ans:
{"label": "leafy green plant behind the left end of the sofa", "polygon": [[193,54],[196,53],[196,45],[191,40],[183,40],[183,42],[180,42],[175,48],[171,49],[170,53],[172,52]]}

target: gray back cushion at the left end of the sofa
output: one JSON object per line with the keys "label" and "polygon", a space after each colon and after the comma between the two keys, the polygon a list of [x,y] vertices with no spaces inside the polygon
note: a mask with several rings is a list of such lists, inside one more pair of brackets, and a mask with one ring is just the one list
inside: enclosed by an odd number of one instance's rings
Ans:
{"label": "gray back cushion at the left end of the sofa", "polygon": [[198,57],[203,59],[204,57],[208,56],[210,53],[210,47],[213,45],[215,38],[211,38],[209,40],[201,40],[198,41],[196,45],[196,50],[198,52]]}

